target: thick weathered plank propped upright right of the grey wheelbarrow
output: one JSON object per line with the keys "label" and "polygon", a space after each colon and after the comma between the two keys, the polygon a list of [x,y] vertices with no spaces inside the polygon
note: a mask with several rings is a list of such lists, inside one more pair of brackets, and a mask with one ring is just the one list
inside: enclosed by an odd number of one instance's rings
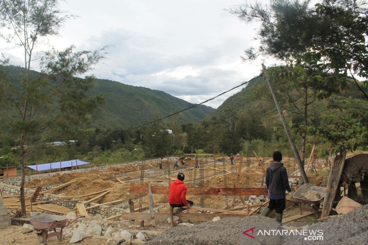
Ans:
{"label": "thick weathered plank propped upright right of the grey wheelbarrow", "polygon": [[326,194],[323,201],[321,218],[328,216],[332,209],[336,190],[337,188],[340,188],[339,181],[345,164],[345,156],[346,150],[344,150],[343,154],[337,155],[335,161],[333,162],[332,170],[330,172],[326,185]]}

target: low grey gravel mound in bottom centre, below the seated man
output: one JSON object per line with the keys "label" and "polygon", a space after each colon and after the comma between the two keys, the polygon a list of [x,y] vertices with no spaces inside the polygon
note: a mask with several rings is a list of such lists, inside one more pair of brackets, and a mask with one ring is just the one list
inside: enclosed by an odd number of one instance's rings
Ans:
{"label": "low grey gravel mound in bottom centre, below the seated man", "polygon": [[[243,232],[255,227],[255,239]],[[192,227],[172,227],[147,244],[175,245],[229,245],[229,244],[280,244],[279,235],[257,236],[260,229],[275,230],[279,224],[275,219],[262,216],[232,217],[217,222],[208,221]],[[252,235],[249,231],[248,234]]]}

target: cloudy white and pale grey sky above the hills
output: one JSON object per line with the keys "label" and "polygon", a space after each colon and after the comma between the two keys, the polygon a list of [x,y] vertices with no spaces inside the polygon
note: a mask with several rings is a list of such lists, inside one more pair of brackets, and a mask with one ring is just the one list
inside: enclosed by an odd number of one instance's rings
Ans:
{"label": "cloudy white and pale grey sky above the hills", "polygon": [[[243,3],[66,0],[61,8],[79,17],[69,19],[61,36],[49,41],[60,50],[71,44],[78,50],[110,45],[106,59],[93,70],[97,78],[162,90],[199,103],[260,73],[262,61],[243,63],[240,58],[243,50],[256,46],[256,26],[224,11]],[[11,64],[22,65],[21,49],[0,44]],[[240,89],[206,105],[217,108]]]}

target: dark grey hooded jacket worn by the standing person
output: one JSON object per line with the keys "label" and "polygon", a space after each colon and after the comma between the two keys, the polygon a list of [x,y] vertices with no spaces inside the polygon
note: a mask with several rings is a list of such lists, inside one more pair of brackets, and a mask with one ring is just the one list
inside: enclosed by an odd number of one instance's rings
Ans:
{"label": "dark grey hooded jacket worn by the standing person", "polygon": [[268,193],[275,197],[284,197],[285,190],[291,191],[287,171],[281,162],[272,162],[266,170]]}

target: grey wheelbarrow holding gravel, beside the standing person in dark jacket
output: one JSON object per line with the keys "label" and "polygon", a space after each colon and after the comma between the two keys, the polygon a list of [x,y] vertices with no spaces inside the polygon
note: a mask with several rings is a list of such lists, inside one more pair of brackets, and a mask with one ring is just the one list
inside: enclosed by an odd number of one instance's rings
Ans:
{"label": "grey wheelbarrow holding gravel, beside the standing person in dark jacket", "polygon": [[[309,200],[303,197],[302,194],[307,191],[316,191],[319,193],[321,198],[317,200]],[[294,199],[296,199],[297,202],[311,204],[312,208],[314,209],[314,213],[317,213],[319,210],[319,206],[321,205],[321,201],[325,197],[325,192],[326,192],[325,187],[314,186],[308,183],[308,184],[304,184],[301,187],[299,187],[298,190],[294,192],[293,197]],[[302,214],[301,205],[299,205],[299,209],[300,209],[300,214]]]}

